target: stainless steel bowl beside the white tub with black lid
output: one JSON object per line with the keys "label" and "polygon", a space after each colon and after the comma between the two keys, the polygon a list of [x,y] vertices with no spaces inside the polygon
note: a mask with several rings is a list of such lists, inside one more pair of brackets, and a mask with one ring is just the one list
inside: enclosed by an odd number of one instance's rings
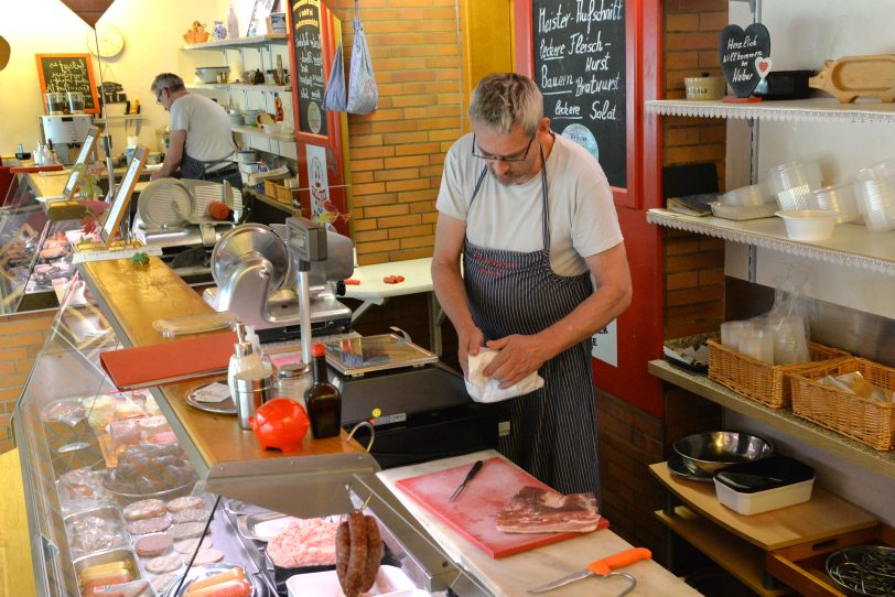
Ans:
{"label": "stainless steel bowl beside the white tub with black lid", "polygon": [[684,464],[711,475],[725,466],[770,456],[774,446],[750,433],[707,431],[677,439],[675,452],[680,454]]}

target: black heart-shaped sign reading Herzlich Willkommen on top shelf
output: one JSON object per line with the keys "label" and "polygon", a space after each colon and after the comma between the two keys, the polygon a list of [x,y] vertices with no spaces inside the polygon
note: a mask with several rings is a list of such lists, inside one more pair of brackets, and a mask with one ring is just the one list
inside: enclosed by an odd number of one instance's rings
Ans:
{"label": "black heart-shaped sign reading Herzlich Willkommen on top shelf", "polygon": [[[752,23],[745,31],[727,25],[719,44],[721,70],[736,97],[748,97],[770,72],[770,33],[762,23]],[[767,69],[758,73],[757,58],[767,58]]]}

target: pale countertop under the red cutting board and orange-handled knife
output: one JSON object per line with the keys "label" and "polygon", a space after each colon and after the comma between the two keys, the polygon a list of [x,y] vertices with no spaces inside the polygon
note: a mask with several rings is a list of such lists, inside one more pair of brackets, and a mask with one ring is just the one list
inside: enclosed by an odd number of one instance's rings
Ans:
{"label": "pale countertop under the red cutting board and orange-handled knife", "polygon": [[[578,572],[595,560],[634,546],[616,535],[612,530],[606,529],[500,560],[492,560],[453,529],[410,499],[395,485],[400,479],[472,464],[477,459],[494,456],[500,455],[495,451],[476,452],[464,456],[382,470],[377,473],[377,476],[427,528],[435,541],[439,542],[439,545],[495,595],[528,595],[527,589],[531,587]],[[637,562],[622,572],[627,572],[637,578],[637,587],[629,594],[633,596],[683,597],[699,595],[697,590],[654,561]],[[627,580],[624,577],[585,578],[546,595],[550,597],[581,595],[615,597],[626,586]]]}

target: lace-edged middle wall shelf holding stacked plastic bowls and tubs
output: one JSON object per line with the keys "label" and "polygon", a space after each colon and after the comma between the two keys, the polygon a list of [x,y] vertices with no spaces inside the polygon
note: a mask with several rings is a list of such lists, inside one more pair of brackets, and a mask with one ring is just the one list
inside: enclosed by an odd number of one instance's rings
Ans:
{"label": "lace-edged middle wall shelf holding stacked plastic bowls and tubs", "polygon": [[833,236],[827,240],[801,242],[789,240],[783,219],[777,217],[738,221],[713,216],[684,216],[669,209],[653,208],[647,211],[646,220],[732,242],[895,275],[895,235],[871,232],[856,224],[838,225]]}

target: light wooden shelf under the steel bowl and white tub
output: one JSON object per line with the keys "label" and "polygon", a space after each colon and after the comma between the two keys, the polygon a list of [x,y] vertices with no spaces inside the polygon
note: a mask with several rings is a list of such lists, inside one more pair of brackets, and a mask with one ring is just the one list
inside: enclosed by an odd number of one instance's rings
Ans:
{"label": "light wooden shelf under the steel bowl and white tub", "polygon": [[878,523],[871,514],[817,485],[811,499],[805,503],[746,517],[722,504],[713,484],[672,475],[667,463],[649,465],[649,471],[691,510],[765,552],[870,529]]}

